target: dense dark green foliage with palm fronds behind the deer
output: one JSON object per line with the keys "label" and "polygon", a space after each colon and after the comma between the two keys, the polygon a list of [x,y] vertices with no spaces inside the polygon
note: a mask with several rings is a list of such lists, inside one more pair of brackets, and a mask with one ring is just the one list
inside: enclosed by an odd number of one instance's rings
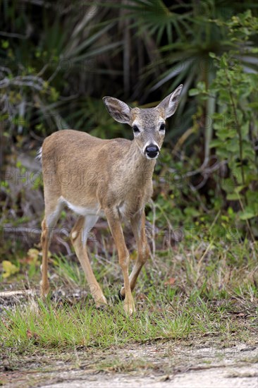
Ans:
{"label": "dense dark green foliage with palm fronds behind the deer", "polygon": [[38,242],[47,135],[133,138],[102,97],[152,107],[180,83],[147,209],[152,248],[257,239],[256,2],[13,0],[0,13],[1,257]]}

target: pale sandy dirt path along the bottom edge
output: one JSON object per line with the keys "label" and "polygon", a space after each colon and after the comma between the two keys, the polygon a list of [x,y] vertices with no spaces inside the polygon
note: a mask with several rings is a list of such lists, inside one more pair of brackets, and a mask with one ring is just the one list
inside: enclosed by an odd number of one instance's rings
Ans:
{"label": "pale sandy dirt path along the bottom edge", "polygon": [[156,341],[24,359],[0,373],[3,387],[258,388],[258,341]]}

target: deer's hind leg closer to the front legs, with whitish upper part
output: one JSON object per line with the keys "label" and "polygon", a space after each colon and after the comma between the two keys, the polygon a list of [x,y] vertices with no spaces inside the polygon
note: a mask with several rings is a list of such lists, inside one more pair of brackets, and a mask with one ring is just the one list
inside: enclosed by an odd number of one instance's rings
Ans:
{"label": "deer's hind leg closer to the front legs, with whitish upper part", "polygon": [[99,286],[99,283],[97,282],[92,271],[92,266],[90,265],[90,260],[87,255],[86,243],[87,237],[90,234],[90,230],[94,224],[96,224],[98,218],[99,217],[95,215],[87,215],[85,217],[80,216],[70,233],[70,239],[75,248],[75,253],[80,261],[80,264],[82,265],[87,283],[90,287],[90,293],[92,294],[97,307],[103,304],[106,305],[107,302],[102,289]]}

